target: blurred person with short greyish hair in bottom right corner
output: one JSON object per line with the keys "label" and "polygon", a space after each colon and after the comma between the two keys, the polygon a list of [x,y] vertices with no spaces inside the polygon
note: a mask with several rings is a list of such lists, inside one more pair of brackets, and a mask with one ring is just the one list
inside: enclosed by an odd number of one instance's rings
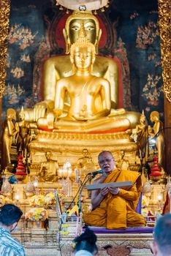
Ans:
{"label": "blurred person with short greyish hair in bottom right corner", "polygon": [[171,255],[171,214],[165,214],[156,221],[151,251],[156,256]]}

